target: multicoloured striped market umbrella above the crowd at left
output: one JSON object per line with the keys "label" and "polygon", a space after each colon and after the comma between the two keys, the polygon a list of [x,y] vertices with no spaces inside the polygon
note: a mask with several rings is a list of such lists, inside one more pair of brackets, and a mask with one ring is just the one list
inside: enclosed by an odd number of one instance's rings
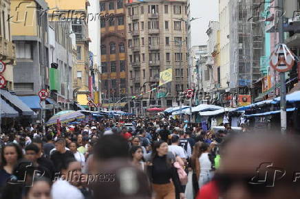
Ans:
{"label": "multicoloured striped market umbrella above the crowd at left", "polygon": [[80,113],[79,111],[74,110],[63,110],[61,112],[56,113],[53,115],[46,123],[47,126],[53,125],[57,123],[57,119],[63,123],[67,123],[69,121],[74,121],[75,119],[83,119],[85,115]]}

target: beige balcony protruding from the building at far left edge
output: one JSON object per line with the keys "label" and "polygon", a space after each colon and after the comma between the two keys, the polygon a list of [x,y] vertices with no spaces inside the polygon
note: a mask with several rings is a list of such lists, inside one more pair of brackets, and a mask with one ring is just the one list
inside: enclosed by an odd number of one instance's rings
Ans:
{"label": "beige balcony protruding from the building at far left edge", "polygon": [[16,46],[9,40],[3,38],[0,35],[0,60],[6,62],[6,64],[13,64],[16,60]]}

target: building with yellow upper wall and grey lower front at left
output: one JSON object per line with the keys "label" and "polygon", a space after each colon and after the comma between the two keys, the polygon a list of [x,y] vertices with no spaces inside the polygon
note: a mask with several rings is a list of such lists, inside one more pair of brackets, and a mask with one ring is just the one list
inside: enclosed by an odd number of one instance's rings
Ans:
{"label": "building with yellow upper wall and grey lower front at left", "polygon": [[[49,90],[49,54],[47,3],[12,0],[11,31],[16,45],[17,65],[14,67],[14,91],[17,95],[37,95]],[[21,31],[20,31],[21,30]]]}

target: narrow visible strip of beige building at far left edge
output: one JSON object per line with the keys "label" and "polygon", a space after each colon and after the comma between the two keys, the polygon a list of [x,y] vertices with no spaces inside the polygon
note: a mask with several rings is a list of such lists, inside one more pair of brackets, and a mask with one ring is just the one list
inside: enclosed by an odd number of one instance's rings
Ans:
{"label": "narrow visible strip of beige building at far left edge", "polygon": [[[14,90],[14,75],[13,65],[16,60],[15,45],[12,43],[10,30],[10,1],[0,1],[0,60],[6,65],[6,70],[1,73],[6,80],[6,85],[9,91]],[[2,80],[1,80],[2,82]]]}

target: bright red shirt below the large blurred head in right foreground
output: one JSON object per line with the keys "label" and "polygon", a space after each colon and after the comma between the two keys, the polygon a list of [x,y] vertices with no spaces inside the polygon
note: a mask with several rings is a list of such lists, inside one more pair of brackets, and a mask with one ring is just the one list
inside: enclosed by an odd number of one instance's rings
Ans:
{"label": "bright red shirt below the large blurred head in right foreground", "polygon": [[219,191],[217,189],[217,183],[215,181],[211,181],[201,187],[198,191],[196,199],[218,199]]}

